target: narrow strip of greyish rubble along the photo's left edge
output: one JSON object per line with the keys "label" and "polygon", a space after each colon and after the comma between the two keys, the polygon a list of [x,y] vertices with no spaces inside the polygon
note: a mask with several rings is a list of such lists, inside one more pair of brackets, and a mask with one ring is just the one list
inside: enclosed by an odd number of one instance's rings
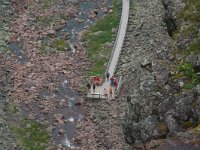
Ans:
{"label": "narrow strip of greyish rubble along the photo's left edge", "polygon": [[7,114],[8,95],[13,83],[12,64],[2,52],[8,48],[9,27],[15,15],[9,0],[0,0],[0,10],[0,149],[13,149],[15,142],[9,129]]}

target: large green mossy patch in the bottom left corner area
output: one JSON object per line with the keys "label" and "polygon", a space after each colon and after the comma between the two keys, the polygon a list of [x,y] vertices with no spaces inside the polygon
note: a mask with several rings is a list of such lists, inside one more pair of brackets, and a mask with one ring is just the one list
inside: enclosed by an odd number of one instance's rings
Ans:
{"label": "large green mossy patch in the bottom left corner area", "polygon": [[44,150],[50,140],[47,131],[30,119],[24,119],[20,124],[14,125],[12,131],[18,144],[26,150]]}

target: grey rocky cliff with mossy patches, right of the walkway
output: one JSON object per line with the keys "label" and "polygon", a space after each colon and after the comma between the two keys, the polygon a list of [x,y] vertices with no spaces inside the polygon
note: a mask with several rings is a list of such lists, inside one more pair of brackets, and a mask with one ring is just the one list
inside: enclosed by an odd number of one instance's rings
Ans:
{"label": "grey rocky cliff with mossy patches, right of the walkway", "polygon": [[146,143],[172,135],[199,140],[198,127],[188,130],[198,126],[200,117],[199,22],[188,16],[200,5],[190,0],[131,3],[117,69],[126,79],[128,95],[126,142]]}

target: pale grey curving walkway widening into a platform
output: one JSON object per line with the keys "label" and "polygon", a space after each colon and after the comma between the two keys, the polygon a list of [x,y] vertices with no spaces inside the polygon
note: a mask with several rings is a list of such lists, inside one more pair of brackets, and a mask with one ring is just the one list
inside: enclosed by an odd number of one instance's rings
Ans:
{"label": "pale grey curving walkway widening into a platform", "polygon": [[[127,25],[128,25],[128,18],[129,18],[129,7],[130,7],[130,0],[123,0],[122,3],[122,14],[121,14],[121,20],[120,20],[120,25],[119,25],[119,29],[118,29],[118,33],[117,33],[117,38],[113,47],[113,51],[107,66],[107,71],[110,73],[110,75],[114,75],[115,72],[115,68],[117,66],[117,62],[119,59],[119,55],[122,49],[122,45],[124,43],[124,37],[126,34],[126,29],[127,29]],[[87,97],[93,97],[93,98],[105,98],[103,96],[103,90],[106,89],[107,91],[109,91],[109,82],[105,81],[102,86],[98,86],[95,89],[94,94],[92,95],[90,93],[88,93]],[[93,93],[93,91],[91,91],[91,93]],[[113,93],[114,93],[114,88],[113,88]],[[115,95],[113,95],[112,97],[108,97],[109,99],[114,98]]]}

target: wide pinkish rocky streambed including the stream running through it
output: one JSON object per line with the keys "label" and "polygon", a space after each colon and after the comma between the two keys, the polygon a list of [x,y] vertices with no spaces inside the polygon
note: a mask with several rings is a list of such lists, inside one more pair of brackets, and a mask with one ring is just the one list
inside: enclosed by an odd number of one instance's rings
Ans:
{"label": "wide pinkish rocky streambed including the stream running through it", "polygon": [[75,140],[77,123],[84,119],[79,89],[90,63],[80,36],[109,13],[111,4],[103,0],[14,0],[5,5],[17,14],[9,21],[6,44],[1,46],[2,55],[12,58],[9,99],[19,107],[22,118],[44,125],[58,148],[81,147]]}

